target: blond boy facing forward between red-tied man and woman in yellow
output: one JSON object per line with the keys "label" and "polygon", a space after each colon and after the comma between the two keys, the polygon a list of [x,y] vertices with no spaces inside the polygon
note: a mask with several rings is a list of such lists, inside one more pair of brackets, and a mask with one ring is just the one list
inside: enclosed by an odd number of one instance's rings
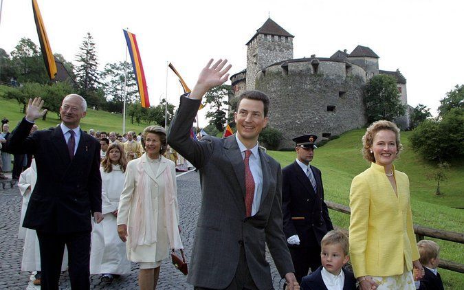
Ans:
{"label": "blond boy facing forward between red-tied man and woman in yellow", "polygon": [[322,266],[303,277],[303,290],[351,290],[356,289],[356,279],[351,271],[343,269],[348,263],[349,240],[340,230],[328,232],[320,242]]}

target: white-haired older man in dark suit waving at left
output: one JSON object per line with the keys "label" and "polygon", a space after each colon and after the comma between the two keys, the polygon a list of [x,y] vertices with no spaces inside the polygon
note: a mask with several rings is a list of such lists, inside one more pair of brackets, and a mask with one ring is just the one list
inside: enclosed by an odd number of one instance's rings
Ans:
{"label": "white-haired older man in dark suit waving at left", "polygon": [[37,182],[23,226],[37,232],[42,289],[58,289],[65,245],[71,288],[89,289],[91,214],[96,223],[103,219],[100,144],[80,130],[87,103],[74,94],[63,99],[59,126],[29,135],[34,120],[46,112],[42,106],[41,98],[29,100],[7,142],[10,153],[36,159]]}

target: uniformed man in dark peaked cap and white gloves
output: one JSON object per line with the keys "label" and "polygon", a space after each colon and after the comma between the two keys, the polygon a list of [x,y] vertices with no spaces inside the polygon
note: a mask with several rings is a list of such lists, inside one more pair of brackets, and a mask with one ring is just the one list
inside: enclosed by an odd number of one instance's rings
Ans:
{"label": "uniformed man in dark peaked cap and white gloves", "polygon": [[316,135],[294,138],[296,161],[283,168],[283,229],[298,282],[320,264],[320,241],[333,230],[320,170],[311,166]]}

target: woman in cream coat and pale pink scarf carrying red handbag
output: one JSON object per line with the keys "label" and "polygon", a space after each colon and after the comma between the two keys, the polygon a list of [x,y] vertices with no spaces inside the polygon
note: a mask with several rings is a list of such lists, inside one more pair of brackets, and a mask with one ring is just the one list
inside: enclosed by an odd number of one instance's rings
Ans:
{"label": "woman in cream coat and pale pink scarf carrying red handbag", "polygon": [[168,249],[182,249],[179,234],[175,164],[166,159],[166,131],[144,129],[145,153],[127,164],[118,212],[118,233],[127,258],[140,265],[139,287],[155,289]]}

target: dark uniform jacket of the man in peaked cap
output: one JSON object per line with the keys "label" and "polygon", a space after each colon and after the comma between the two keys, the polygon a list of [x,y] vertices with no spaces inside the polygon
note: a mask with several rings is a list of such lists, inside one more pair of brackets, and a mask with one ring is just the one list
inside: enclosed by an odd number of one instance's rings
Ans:
{"label": "dark uniform jacket of the man in peaked cap", "polygon": [[[311,181],[296,161],[282,170],[283,229],[287,238],[294,234],[300,238],[300,245],[289,247],[320,245],[324,235],[333,230],[329,210],[324,203],[320,170],[314,166],[311,166],[311,170],[316,179],[317,192],[314,192]],[[316,241],[313,241],[314,236]]]}

